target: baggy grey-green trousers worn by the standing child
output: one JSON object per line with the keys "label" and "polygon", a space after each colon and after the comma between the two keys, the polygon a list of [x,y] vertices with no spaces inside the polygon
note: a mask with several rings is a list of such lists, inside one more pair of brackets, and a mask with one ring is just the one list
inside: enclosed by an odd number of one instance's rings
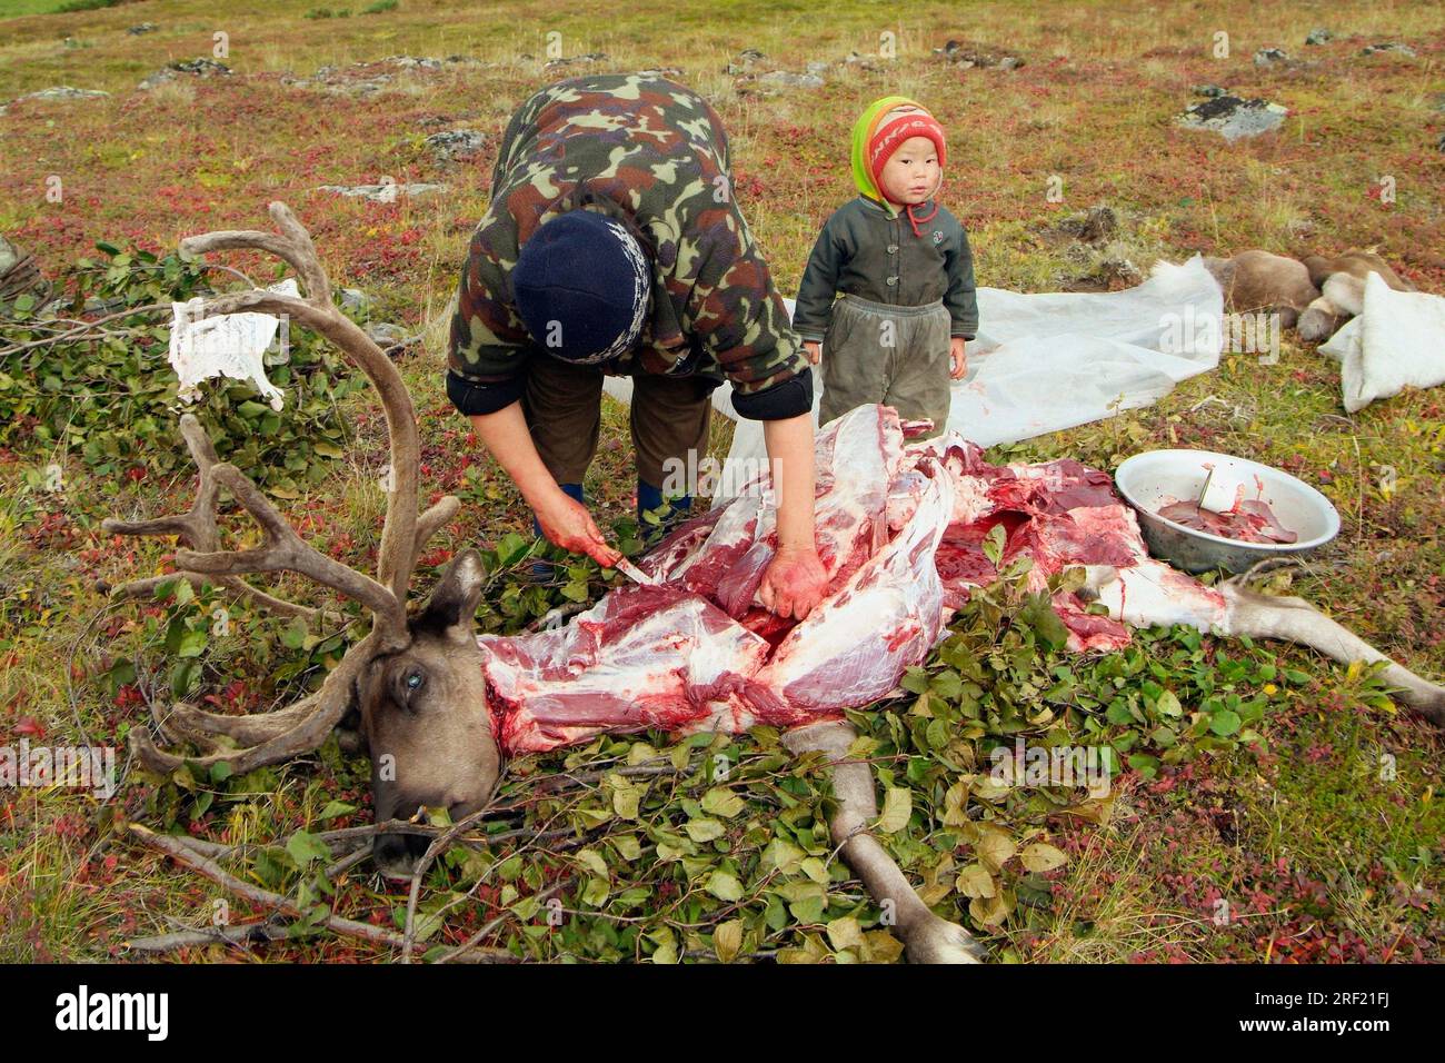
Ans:
{"label": "baggy grey-green trousers worn by the standing child", "polygon": [[929,418],[938,435],[948,424],[949,328],[944,304],[890,307],[857,295],[832,305],[822,340],[822,399],[818,422],[854,406],[881,402],[905,421]]}

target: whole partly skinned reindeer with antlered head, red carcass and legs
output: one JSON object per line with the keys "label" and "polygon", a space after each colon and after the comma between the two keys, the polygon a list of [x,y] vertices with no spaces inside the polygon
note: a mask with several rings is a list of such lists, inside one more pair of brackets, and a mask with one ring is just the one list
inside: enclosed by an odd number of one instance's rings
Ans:
{"label": "whole partly skinned reindeer with antlered head, red carcass and legs", "polygon": [[[855,732],[842,710],[890,693],[902,670],[926,659],[932,645],[946,635],[946,619],[970,587],[987,584],[988,576],[977,564],[949,567],[941,558],[949,551],[954,561],[972,557],[970,551],[978,545],[974,534],[988,521],[1007,513],[1013,525],[1020,518],[1029,524],[1010,542],[1032,551],[1039,579],[1064,565],[1085,567],[1087,581],[1078,597],[1056,597],[1056,609],[1079,619],[1082,603],[1092,599],[1110,606],[1114,619],[1088,615],[1091,626],[1081,641],[1071,639],[1074,648],[1103,648],[1090,641],[1097,638],[1127,638],[1124,623],[1188,623],[1222,636],[1298,642],[1338,661],[1383,659],[1302,599],[1256,594],[1241,581],[1205,587],[1150,558],[1133,513],[1113,496],[1107,474],[1066,460],[987,466],[978,448],[952,434],[905,454],[906,427],[900,428],[896,415],[881,406],[860,408],[818,437],[819,554],[834,581],[824,605],[789,633],[773,631],[772,644],[756,635],[769,631],[770,619],[757,612],[756,583],[749,574],[766,564],[775,529],[772,518],[746,498],[733,503],[741,503],[741,509],[724,508],[679,526],[643,560],[647,576],[663,586],[620,587],[591,613],[574,618],[569,632],[478,641],[473,625],[484,571],[475,551],[458,554],[426,606],[409,618],[406,596],[418,554],[457,512],[457,499],[445,498],[418,512],[419,441],[410,396],[376,344],[332,307],[329,283],[306,231],[285,205],[272,204],[270,213],[279,234],[212,233],[182,246],[194,253],[253,247],[289,262],[305,285],[305,298],[260,291],[221,295],[208,302],[208,312],[288,314],[335,343],[376,386],[390,431],[393,470],[376,576],[354,571],[302,541],[254,483],[217,460],[199,424],[186,417],[181,431],[199,469],[191,511],[105,522],[107,531],[123,535],[179,537],[185,547],[176,551],[178,574],[137,580],[116,593],[149,594],[158,581],[171,579],[208,580],[264,607],[315,616],[315,607],[286,602],[243,579],[295,571],[360,602],[373,626],[321,690],[293,707],[260,716],[205,713],[186,704],[153,707],[156,729],[172,742],[215,746],[215,739],[224,738],[238,745],[185,758],[162,752],[143,727],[134,727],[134,752],[153,769],[225,761],[241,772],[279,764],[319,746],[342,716],[355,710],[373,762],[377,819],[392,821],[410,817],[418,807],[445,807],[460,823],[486,813],[503,755],[513,749],[552,748],[598,730],[740,730],[757,720],[773,722],[786,729],[783,743],[789,751],[821,755],[828,765],[834,843],[874,900],[890,904],[893,930],[909,959],[975,962],[983,956],[978,943],[918,897],[870,833],[879,814],[873,772],[848,755]],[[840,425],[848,418],[848,425]],[[853,453],[857,440],[881,440],[874,450],[883,453],[883,464],[877,453],[870,457],[868,447]],[[883,479],[876,484],[860,480],[870,474]],[[217,506],[223,490],[260,525],[260,547],[221,548]],[[1111,537],[1084,535],[1079,529],[1108,529]],[[717,547],[711,555],[708,542]],[[717,564],[709,568],[699,560],[704,557],[722,557],[725,571]],[[644,605],[670,602],[681,610],[678,616],[695,622],[698,642],[678,651],[676,667],[657,667],[646,644],[630,649],[626,644],[629,632],[643,631],[643,620],[657,620],[659,609],[652,605],[627,613],[634,619],[616,625],[608,635],[605,619],[621,616],[608,612],[611,603],[626,603],[629,594],[637,602],[646,599]],[[1100,635],[1101,620],[1114,628]],[[679,631],[681,620],[659,626],[675,648]],[[840,638],[840,632],[847,635]],[[718,645],[734,646],[737,657],[718,661]],[[815,659],[819,645],[838,652]],[[886,664],[870,657],[874,651],[889,655]],[[561,654],[565,667],[556,661],[549,668],[538,667],[553,654]],[[607,709],[608,691],[587,684],[616,674],[618,661],[650,667],[647,674],[655,678],[649,681],[673,684],[666,699],[659,696],[649,704],[675,704],[681,714],[640,714],[637,706],[646,699],[636,690],[631,697],[613,697],[616,707]],[[870,667],[877,674],[870,675]],[[1409,704],[1445,726],[1445,688],[1394,662],[1386,674]],[[578,697],[588,690],[592,693]],[[384,872],[410,876],[426,849],[423,836],[379,834],[374,855]]]}

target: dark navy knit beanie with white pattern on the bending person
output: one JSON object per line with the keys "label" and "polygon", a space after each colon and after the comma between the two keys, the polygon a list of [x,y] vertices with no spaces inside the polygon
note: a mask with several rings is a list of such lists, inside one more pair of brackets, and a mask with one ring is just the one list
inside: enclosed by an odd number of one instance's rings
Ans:
{"label": "dark navy knit beanie with white pattern on the bending person", "polygon": [[637,239],[588,210],[543,223],[512,270],[512,298],[532,340],[582,364],[637,343],[650,291],[652,269]]}

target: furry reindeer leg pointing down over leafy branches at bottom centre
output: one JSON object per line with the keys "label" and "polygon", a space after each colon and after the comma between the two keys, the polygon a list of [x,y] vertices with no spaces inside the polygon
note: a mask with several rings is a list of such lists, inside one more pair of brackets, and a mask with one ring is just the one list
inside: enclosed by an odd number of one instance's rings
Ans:
{"label": "furry reindeer leg pointing down over leafy branches at bottom centre", "polygon": [[873,790],[873,771],[858,761],[848,761],[848,746],[857,738],[845,720],[824,720],[789,730],[783,745],[793,754],[822,752],[832,768],[832,793],[838,811],[828,824],[834,845],[842,859],[863,879],[868,894],[879,904],[893,902],[896,930],[910,963],[978,963],[984,949],[967,930],[929,911],[913,892],[877,839],[867,833],[877,817],[879,804]]}

